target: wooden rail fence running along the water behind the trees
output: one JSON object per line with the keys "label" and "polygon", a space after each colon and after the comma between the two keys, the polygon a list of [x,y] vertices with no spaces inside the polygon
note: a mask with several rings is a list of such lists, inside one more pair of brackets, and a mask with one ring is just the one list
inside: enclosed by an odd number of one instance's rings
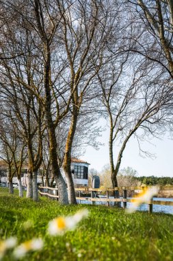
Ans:
{"label": "wooden rail fence running along the water behind the trees", "polygon": [[[146,187],[120,187],[120,188],[105,188],[103,190],[96,189],[96,188],[75,188],[76,192],[79,192],[79,196],[77,196],[77,200],[79,200],[79,203],[81,201],[91,201],[94,205],[96,202],[106,202],[107,206],[110,205],[111,202],[122,202],[123,208],[127,207],[127,202],[133,202],[132,198],[127,198],[127,191],[134,191],[134,190],[144,190]],[[172,190],[173,186],[160,186],[161,190]],[[122,192],[122,198],[109,198],[110,192],[114,192],[116,190],[119,190]],[[81,196],[81,192],[90,194],[90,196]],[[104,198],[98,198],[96,197],[96,193],[102,193],[105,192]],[[49,198],[55,198],[58,201],[58,192],[57,188],[50,188],[50,187],[39,187],[39,193],[41,196],[48,196]],[[173,206],[173,201],[148,201],[148,212],[152,213],[152,206],[153,205],[170,205]]]}

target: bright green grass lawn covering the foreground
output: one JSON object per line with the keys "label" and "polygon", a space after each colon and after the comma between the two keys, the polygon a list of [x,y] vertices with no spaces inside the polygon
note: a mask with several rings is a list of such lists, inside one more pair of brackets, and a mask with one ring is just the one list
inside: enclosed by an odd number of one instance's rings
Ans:
{"label": "bright green grass lawn covering the foreground", "polygon": [[[46,233],[49,220],[74,214],[83,207],[89,209],[90,216],[82,220],[75,231],[56,237]],[[27,230],[23,227],[26,220],[32,223]],[[19,198],[18,192],[9,195],[8,190],[1,188],[0,238],[10,236],[16,236],[19,243],[43,238],[44,249],[23,258],[29,261],[173,260],[172,215],[146,212],[128,215],[114,207],[62,206],[43,197],[36,203]],[[8,252],[4,260],[13,260],[12,253]]]}

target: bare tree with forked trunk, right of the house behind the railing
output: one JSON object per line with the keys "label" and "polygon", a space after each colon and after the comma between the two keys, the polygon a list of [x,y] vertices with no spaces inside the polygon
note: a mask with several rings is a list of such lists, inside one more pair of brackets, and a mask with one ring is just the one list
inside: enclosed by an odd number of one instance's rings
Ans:
{"label": "bare tree with forked trunk, right of the house behind the railing", "polygon": [[[106,70],[103,74],[98,73],[106,110],[103,113],[109,119],[109,161],[113,187],[118,186],[117,175],[129,139],[134,135],[137,141],[150,135],[159,137],[168,122],[167,106],[172,102],[170,78],[165,78],[160,67],[145,58],[127,61],[125,56],[124,61],[120,60],[119,69],[116,60],[116,65],[110,65],[107,73]],[[119,144],[116,161],[115,144]],[[114,196],[118,197],[118,192]]]}

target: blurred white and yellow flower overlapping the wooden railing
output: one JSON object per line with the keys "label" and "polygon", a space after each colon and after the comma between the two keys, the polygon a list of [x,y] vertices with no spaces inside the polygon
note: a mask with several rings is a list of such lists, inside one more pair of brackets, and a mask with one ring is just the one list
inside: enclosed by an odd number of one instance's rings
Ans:
{"label": "blurred white and yellow flower overlapping the wooden railing", "polygon": [[141,192],[137,198],[133,199],[133,204],[127,209],[127,213],[135,212],[139,205],[142,205],[142,203],[148,203],[148,201],[150,201],[153,196],[157,195],[158,192],[159,187],[147,188]]}

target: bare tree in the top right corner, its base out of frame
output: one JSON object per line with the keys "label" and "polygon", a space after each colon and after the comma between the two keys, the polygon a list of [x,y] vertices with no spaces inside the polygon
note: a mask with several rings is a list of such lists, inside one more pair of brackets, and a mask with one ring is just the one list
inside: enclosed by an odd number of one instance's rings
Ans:
{"label": "bare tree in the top right corner, its base out of frame", "polygon": [[[173,76],[172,1],[129,0],[133,45],[131,50],[159,63]],[[138,33],[135,29],[138,29]]]}

